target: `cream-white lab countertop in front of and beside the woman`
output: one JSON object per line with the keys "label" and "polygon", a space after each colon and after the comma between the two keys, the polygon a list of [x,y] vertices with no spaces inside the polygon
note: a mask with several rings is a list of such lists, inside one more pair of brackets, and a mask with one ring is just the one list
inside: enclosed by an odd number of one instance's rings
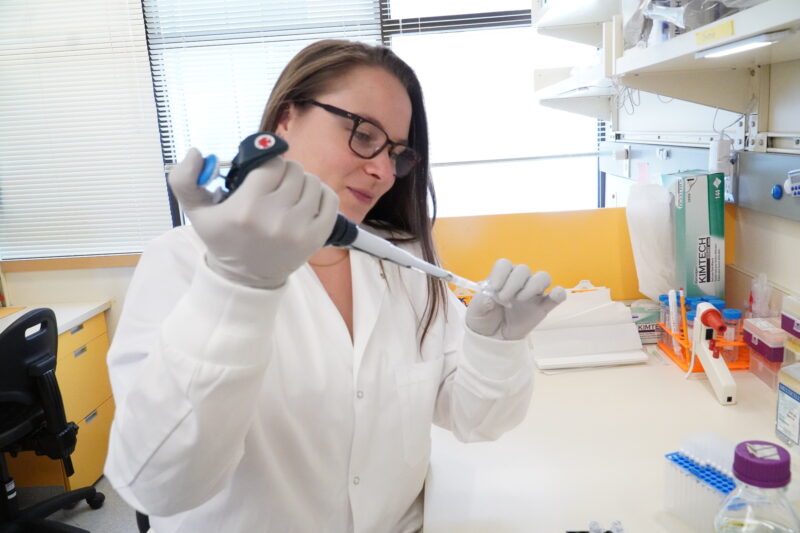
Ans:
{"label": "cream-white lab countertop in front of and beside the woman", "polygon": [[[734,372],[731,406],[717,403],[704,375],[683,376],[662,356],[537,371],[527,418],[500,440],[463,444],[434,428],[425,532],[563,533],[591,520],[621,520],[626,533],[689,532],[664,510],[664,455],[703,431],[734,444],[779,441],[775,392],[755,375]],[[800,454],[792,459],[796,473]]]}

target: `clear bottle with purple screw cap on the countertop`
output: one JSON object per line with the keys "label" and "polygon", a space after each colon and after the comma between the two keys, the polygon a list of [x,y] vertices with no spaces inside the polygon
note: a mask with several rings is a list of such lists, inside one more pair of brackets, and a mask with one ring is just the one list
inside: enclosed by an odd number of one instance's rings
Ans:
{"label": "clear bottle with purple screw cap on the countertop", "polygon": [[733,475],[739,484],[714,518],[716,533],[797,533],[800,520],[786,498],[791,480],[785,448],[751,440],[736,446]]}

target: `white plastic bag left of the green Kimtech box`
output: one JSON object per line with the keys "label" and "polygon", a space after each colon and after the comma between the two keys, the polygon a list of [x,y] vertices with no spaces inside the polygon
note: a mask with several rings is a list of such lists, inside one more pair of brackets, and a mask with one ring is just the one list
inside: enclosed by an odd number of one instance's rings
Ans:
{"label": "white plastic bag left of the green Kimtech box", "polygon": [[639,292],[658,300],[675,288],[675,241],[672,194],[655,184],[630,189],[626,215]]}

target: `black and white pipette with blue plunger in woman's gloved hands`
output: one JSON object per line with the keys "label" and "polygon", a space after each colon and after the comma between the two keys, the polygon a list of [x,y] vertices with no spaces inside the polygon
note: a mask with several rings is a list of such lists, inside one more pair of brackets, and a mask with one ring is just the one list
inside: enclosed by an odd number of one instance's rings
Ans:
{"label": "black and white pipette with blue plunger in woman's gloved hands", "polygon": [[[197,178],[197,184],[209,191],[215,203],[221,202],[233,194],[233,191],[242,184],[251,170],[288,149],[289,145],[286,141],[277,135],[265,132],[254,133],[239,144],[239,153],[233,158],[231,169],[224,178],[219,174],[219,159],[215,155],[206,157],[203,170]],[[336,217],[336,223],[333,226],[330,237],[325,242],[325,246],[358,250],[379,259],[385,259],[400,266],[444,280],[458,287],[483,292],[498,303],[503,304],[498,300],[496,292],[488,286],[487,282],[477,283],[423,261],[386,239],[362,230],[341,213]]]}

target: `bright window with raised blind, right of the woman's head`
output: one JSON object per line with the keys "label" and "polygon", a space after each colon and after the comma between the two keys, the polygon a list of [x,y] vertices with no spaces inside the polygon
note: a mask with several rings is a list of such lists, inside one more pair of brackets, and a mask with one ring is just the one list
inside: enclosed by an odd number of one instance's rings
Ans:
{"label": "bright window with raised blind, right of the woman's head", "polygon": [[439,216],[597,207],[597,120],[533,96],[534,68],[590,64],[596,50],[537,35],[529,11],[479,17],[452,12],[464,2],[416,0],[390,11],[427,15],[427,4],[440,16],[387,26],[425,90]]}

